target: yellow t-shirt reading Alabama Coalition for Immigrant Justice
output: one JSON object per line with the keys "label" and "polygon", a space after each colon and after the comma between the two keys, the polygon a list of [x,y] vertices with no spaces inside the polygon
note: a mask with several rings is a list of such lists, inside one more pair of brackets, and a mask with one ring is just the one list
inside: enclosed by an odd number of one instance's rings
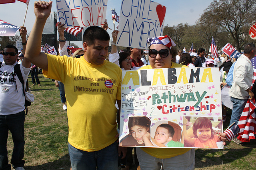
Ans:
{"label": "yellow t-shirt reading Alabama Coalition for Immigrant Justice", "polygon": [[45,77],[65,85],[68,142],[84,151],[101,150],[117,140],[116,100],[121,99],[122,70],[109,61],[88,63],[84,57],[47,55]]}

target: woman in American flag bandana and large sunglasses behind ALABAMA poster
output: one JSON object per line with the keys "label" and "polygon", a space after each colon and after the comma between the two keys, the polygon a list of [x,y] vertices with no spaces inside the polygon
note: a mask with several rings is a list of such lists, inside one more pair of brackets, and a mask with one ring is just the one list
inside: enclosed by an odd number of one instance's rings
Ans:
{"label": "woman in American flag bandana and large sunglasses behind ALABAMA poster", "polygon": [[[168,36],[148,39],[149,63],[140,69],[188,67],[172,62],[176,44]],[[225,138],[224,138],[225,139]],[[195,165],[194,149],[136,148],[141,170],[164,169],[192,170]]]}

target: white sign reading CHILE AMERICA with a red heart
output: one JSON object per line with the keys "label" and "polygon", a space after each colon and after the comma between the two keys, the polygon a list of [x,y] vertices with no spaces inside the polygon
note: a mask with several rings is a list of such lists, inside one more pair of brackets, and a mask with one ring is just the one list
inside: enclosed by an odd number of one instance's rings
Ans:
{"label": "white sign reading CHILE AMERICA with a red heart", "polygon": [[166,7],[152,0],[122,0],[117,45],[146,49],[147,39],[162,36]]}

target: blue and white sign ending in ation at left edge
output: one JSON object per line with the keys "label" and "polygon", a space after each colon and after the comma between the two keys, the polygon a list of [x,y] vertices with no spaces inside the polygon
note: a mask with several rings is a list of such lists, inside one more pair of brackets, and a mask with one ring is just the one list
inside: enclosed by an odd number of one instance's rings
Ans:
{"label": "blue and white sign ending in ation at left edge", "polygon": [[15,36],[16,32],[20,29],[15,25],[0,20],[0,36]]}

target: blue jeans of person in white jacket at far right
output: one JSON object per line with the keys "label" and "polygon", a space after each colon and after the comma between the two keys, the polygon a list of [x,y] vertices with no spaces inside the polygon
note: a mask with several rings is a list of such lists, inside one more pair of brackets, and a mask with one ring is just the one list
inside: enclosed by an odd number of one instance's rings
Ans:
{"label": "blue jeans of person in white jacket at far right", "polygon": [[238,124],[240,116],[244,111],[244,106],[246,105],[248,99],[237,99],[230,97],[230,100],[233,103],[233,110],[229,125],[231,125],[233,122],[236,122],[236,124]]}

